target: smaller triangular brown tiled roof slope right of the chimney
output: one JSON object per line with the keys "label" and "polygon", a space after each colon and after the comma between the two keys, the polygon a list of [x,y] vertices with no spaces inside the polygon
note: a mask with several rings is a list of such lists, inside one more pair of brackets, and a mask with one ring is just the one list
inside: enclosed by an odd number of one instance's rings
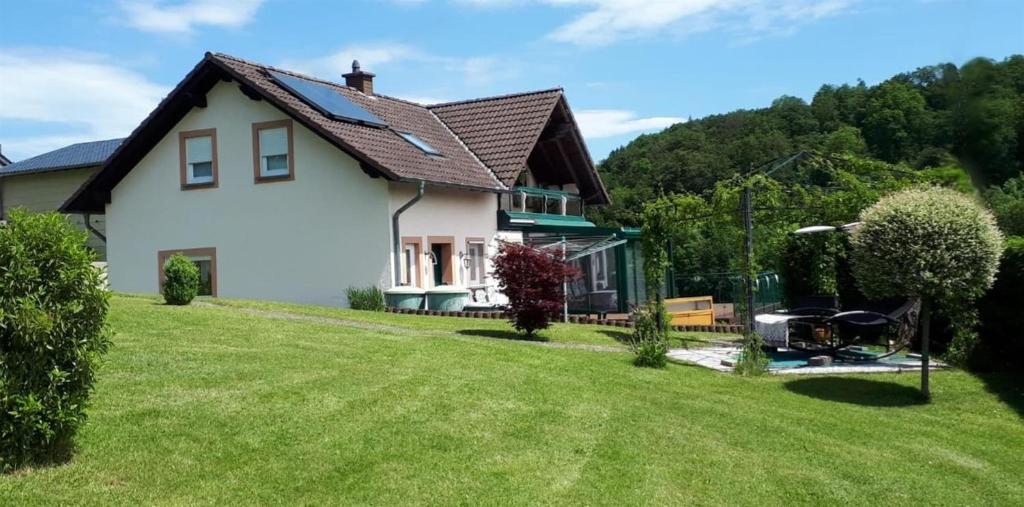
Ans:
{"label": "smaller triangular brown tiled roof slope right of the chimney", "polygon": [[429,108],[511,186],[561,96],[562,90],[555,88]]}

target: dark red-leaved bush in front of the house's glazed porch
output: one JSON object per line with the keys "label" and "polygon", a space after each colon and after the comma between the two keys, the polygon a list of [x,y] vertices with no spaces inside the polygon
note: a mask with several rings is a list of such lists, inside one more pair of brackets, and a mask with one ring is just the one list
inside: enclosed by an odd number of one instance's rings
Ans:
{"label": "dark red-leaved bush in front of the house's glazed porch", "polygon": [[564,304],[562,284],[579,273],[562,260],[517,243],[502,243],[495,256],[495,278],[509,299],[512,325],[528,336],[558,318]]}

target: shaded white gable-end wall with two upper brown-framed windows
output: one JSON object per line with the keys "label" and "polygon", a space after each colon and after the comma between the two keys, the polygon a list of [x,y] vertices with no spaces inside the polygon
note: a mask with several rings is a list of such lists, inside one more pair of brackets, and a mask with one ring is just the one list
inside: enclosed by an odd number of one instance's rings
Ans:
{"label": "shaded white gable-end wall with two upper brown-framed windows", "polygon": [[[159,291],[161,250],[217,249],[221,297],[345,304],[349,286],[388,273],[388,183],[294,123],[295,179],[253,182],[252,124],[286,119],[233,83],[193,109],[114,188],[106,207],[110,281]],[[217,129],[218,186],[180,189],[178,132]],[[494,217],[489,217],[494,222]]]}

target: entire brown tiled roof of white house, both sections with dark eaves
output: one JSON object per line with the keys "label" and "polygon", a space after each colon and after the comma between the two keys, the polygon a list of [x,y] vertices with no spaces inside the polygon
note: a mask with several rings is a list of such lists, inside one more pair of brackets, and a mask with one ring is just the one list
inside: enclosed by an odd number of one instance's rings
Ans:
{"label": "entire brown tiled roof of white house, both sections with dark eaves", "polygon": [[[325,115],[279,84],[271,72],[327,86],[383,120],[387,127],[378,128]],[[422,180],[488,192],[505,192],[511,186],[526,167],[532,145],[556,109],[559,104],[567,108],[560,89],[427,107],[381,94],[368,95],[345,85],[226,54],[207,53],[115,152],[103,169],[62,209],[101,212],[103,205],[110,202],[111,189],[121,178],[188,111],[194,107],[206,107],[206,93],[222,81],[234,82],[248,97],[266,100],[288,114],[357,160],[362,170],[373,177]],[[474,120],[474,115],[484,119]],[[399,132],[415,134],[436,149],[440,156],[424,153],[398,135]],[[599,181],[589,155],[584,156],[593,179]],[[517,164],[518,169],[515,168]],[[599,194],[606,202],[603,186]]]}

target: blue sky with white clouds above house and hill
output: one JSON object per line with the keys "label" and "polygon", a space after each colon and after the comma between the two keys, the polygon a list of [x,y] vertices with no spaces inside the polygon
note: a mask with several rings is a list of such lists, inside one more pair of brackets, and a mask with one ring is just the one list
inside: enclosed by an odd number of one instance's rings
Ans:
{"label": "blue sky with white clouds above house and hill", "polygon": [[125,136],[208,50],[441,101],[562,86],[595,160],[822,83],[1024,52],[1018,0],[0,0],[13,160]]}

